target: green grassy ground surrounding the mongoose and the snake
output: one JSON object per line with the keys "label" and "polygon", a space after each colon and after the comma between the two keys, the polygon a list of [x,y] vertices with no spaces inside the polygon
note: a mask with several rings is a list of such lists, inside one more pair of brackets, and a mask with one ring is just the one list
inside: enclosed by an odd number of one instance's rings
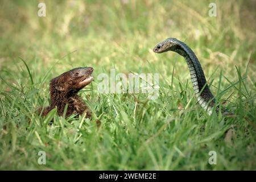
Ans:
{"label": "green grassy ground surrounding the mongoose and the snake", "polygon": [[[42,18],[39,1],[0,2],[0,169],[256,169],[255,1],[215,1],[217,17],[208,16],[212,1],[45,2]],[[236,118],[207,115],[183,57],[152,52],[168,37],[195,51],[210,89]],[[82,66],[95,78],[111,68],[160,73],[160,95],[100,94],[95,79],[80,92],[92,121],[39,118],[49,80]]]}

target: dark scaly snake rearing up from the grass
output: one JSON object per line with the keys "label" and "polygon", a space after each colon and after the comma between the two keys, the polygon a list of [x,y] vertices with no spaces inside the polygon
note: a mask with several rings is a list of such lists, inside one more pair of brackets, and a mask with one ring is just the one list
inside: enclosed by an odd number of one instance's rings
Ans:
{"label": "dark scaly snake rearing up from the grass", "polygon": [[[187,46],[187,44],[181,42],[176,38],[168,38],[166,40],[163,40],[163,42],[158,43],[154,47],[153,51],[155,53],[174,51],[176,53],[179,53],[179,55],[183,56],[187,61],[191,76],[191,82],[193,90],[195,92],[195,96],[197,98],[197,102],[205,111],[207,111],[209,115],[213,113],[214,106],[216,113],[219,112],[220,106],[216,104],[216,99],[210,91],[201,64],[197,59],[195,53],[192,51],[191,48]],[[221,113],[224,115],[231,114],[226,108],[222,108]]]}

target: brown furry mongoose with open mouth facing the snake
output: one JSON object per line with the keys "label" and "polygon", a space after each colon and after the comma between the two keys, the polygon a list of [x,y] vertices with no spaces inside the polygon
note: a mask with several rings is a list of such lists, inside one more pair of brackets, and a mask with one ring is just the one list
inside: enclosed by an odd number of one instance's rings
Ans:
{"label": "brown furry mongoose with open mouth facing the snake", "polygon": [[43,111],[40,108],[39,114],[42,112],[42,115],[45,116],[57,107],[58,115],[62,116],[65,105],[68,104],[65,117],[69,117],[71,114],[86,113],[86,118],[91,118],[92,112],[77,93],[93,81],[92,72],[92,67],[75,68],[53,78],[49,84],[51,105]]}

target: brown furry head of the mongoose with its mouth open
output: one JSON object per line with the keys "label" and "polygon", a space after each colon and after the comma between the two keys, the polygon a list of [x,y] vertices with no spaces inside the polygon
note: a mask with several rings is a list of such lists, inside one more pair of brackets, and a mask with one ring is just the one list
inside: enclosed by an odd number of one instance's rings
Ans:
{"label": "brown furry head of the mongoose with its mouth open", "polygon": [[79,92],[84,86],[93,81],[91,76],[92,67],[75,68],[60,76],[53,78],[50,84],[51,92],[59,90],[61,92]]}

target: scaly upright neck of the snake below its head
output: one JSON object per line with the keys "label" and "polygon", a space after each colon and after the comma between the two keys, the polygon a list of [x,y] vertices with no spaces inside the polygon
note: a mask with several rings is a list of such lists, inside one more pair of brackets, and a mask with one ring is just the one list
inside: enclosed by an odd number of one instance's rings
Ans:
{"label": "scaly upright neck of the snake below its head", "polygon": [[[174,46],[170,47],[170,51],[177,52],[185,58],[188,64],[193,90],[195,91],[197,101],[209,115],[212,114],[215,99],[212,92],[210,92],[204,71],[195,53],[191,48],[179,40],[177,40]],[[218,106],[216,107],[216,111],[218,111]]]}

